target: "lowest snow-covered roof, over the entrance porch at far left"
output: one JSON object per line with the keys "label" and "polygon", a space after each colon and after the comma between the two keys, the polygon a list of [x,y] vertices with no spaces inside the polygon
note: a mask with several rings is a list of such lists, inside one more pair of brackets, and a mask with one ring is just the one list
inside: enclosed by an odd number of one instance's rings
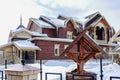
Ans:
{"label": "lowest snow-covered roof, over the entrance porch at far left", "polygon": [[19,50],[26,50],[26,49],[41,50],[39,47],[35,46],[35,44],[30,42],[29,40],[20,40],[20,41],[7,43],[5,45],[0,46],[0,50],[3,50],[4,48],[13,46],[13,45],[17,47]]}

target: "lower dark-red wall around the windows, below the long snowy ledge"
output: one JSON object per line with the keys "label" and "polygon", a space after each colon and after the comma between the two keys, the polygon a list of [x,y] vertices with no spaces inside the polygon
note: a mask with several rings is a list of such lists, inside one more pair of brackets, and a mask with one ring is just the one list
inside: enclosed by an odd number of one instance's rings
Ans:
{"label": "lower dark-red wall around the windows, below the long snowy ledge", "polygon": [[[54,44],[60,45],[60,54],[64,51],[64,45],[68,45],[70,43],[67,42],[57,42],[57,41],[43,41],[36,40],[35,44],[41,48],[41,51],[37,51],[37,59],[69,59],[67,56],[55,56],[54,55]],[[76,46],[73,48],[76,49]],[[73,49],[71,51],[73,51]]]}

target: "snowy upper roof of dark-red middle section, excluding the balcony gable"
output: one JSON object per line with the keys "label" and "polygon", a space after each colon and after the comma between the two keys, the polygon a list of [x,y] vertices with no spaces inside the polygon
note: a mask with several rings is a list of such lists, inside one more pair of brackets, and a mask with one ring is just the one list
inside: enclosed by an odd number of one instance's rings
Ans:
{"label": "snowy upper roof of dark-red middle section, excluding the balcony gable", "polygon": [[54,18],[54,17],[47,17],[47,16],[43,16],[41,15],[39,17],[39,19],[36,18],[30,18],[29,24],[28,24],[28,29],[30,28],[32,22],[34,22],[35,24],[37,24],[38,26],[42,27],[42,28],[51,28],[51,29],[56,29],[59,27],[66,27],[67,22],[72,21],[73,25],[75,25],[76,27],[79,27],[79,25],[77,25],[76,23],[79,23],[79,21],[77,21],[77,19],[69,17],[67,19],[59,19],[59,18]]}

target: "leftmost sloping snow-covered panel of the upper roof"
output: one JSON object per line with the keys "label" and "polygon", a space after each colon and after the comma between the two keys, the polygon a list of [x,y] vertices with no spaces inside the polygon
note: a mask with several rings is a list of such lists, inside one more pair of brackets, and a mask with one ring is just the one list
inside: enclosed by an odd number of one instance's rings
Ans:
{"label": "leftmost sloping snow-covered panel of the upper roof", "polygon": [[32,20],[33,22],[35,22],[40,27],[54,29],[54,27],[52,25],[48,24],[47,22],[45,22],[45,21],[43,21],[41,19],[30,18],[30,20]]}

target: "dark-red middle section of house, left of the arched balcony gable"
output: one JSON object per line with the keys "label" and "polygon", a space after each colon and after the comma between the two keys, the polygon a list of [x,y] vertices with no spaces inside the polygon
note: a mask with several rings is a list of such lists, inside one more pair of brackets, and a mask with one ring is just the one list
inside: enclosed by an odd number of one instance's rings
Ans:
{"label": "dark-red middle section of house, left of the arched balcony gable", "polygon": [[[27,29],[41,34],[47,34],[48,37],[35,37],[31,41],[41,48],[37,51],[37,59],[68,59],[67,56],[59,55],[79,34],[82,24],[72,18],[61,20],[40,16],[39,19],[30,18]],[[75,48],[74,48],[75,49]]]}

